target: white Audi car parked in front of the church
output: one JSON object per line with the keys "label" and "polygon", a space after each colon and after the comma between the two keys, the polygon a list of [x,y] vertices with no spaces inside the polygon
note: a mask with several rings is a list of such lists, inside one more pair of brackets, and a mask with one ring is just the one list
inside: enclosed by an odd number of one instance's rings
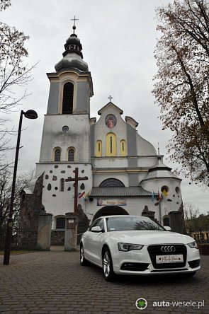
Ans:
{"label": "white Audi car parked in front of the church", "polygon": [[107,281],[115,274],[193,276],[200,269],[200,254],[193,238],[147,217],[103,216],[83,234],[80,262],[101,267]]}

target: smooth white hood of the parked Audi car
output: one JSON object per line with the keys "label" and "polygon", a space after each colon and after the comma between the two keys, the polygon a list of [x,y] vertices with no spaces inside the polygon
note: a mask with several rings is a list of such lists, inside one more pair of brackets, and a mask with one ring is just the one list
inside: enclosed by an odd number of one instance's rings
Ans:
{"label": "smooth white hood of the parked Audi car", "polygon": [[194,241],[190,236],[171,231],[111,231],[106,233],[108,238],[118,242],[151,245],[167,243],[191,243]]}

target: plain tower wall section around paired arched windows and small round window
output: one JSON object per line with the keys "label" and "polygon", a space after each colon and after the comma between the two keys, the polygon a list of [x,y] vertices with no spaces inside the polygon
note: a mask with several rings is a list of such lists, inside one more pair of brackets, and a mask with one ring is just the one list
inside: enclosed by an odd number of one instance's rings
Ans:
{"label": "plain tower wall section around paired arched windows and small round window", "polygon": [[[62,131],[65,125],[69,127],[68,132]],[[46,115],[40,162],[52,161],[52,151],[55,147],[62,149],[61,161],[66,161],[69,146],[76,150],[76,161],[90,161],[89,115]]]}

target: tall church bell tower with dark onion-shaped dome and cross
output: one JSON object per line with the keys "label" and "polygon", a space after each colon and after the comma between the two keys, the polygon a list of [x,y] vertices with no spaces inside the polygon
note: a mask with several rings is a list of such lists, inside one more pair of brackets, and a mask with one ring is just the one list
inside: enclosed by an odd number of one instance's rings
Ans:
{"label": "tall church bell tower with dark onion-shaped dome and cross", "polygon": [[43,176],[43,205],[45,210],[56,217],[73,211],[74,169],[79,175],[84,173],[88,180],[79,186],[78,192],[91,190],[90,152],[90,98],[93,84],[88,64],[84,62],[82,45],[73,33],[64,44],[60,62],[55,64],[55,72],[47,73],[50,93],[47,114],[43,124],[40,159],[36,165],[36,176]]}

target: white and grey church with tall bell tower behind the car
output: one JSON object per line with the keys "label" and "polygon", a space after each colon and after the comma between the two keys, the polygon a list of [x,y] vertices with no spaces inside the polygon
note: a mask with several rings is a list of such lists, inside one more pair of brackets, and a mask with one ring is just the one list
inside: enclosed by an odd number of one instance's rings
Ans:
{"label": "white and grey church with tall bell tower behind the car", "polygon": [[52,214],[52,231],[64,230],[64,215],[74,211],[78,168],[77,203],[90,223],[103,215],[132,214],[169,226],[170,213],[182,209],[181,179],[138,134],[128,107],[114,104],[110,96],[98,120],[90,116],[93,81],[73,29],[55,72],[47,73],[50,92],[40,159],[24,199],[33,196],[42,178],[40,203]]}

